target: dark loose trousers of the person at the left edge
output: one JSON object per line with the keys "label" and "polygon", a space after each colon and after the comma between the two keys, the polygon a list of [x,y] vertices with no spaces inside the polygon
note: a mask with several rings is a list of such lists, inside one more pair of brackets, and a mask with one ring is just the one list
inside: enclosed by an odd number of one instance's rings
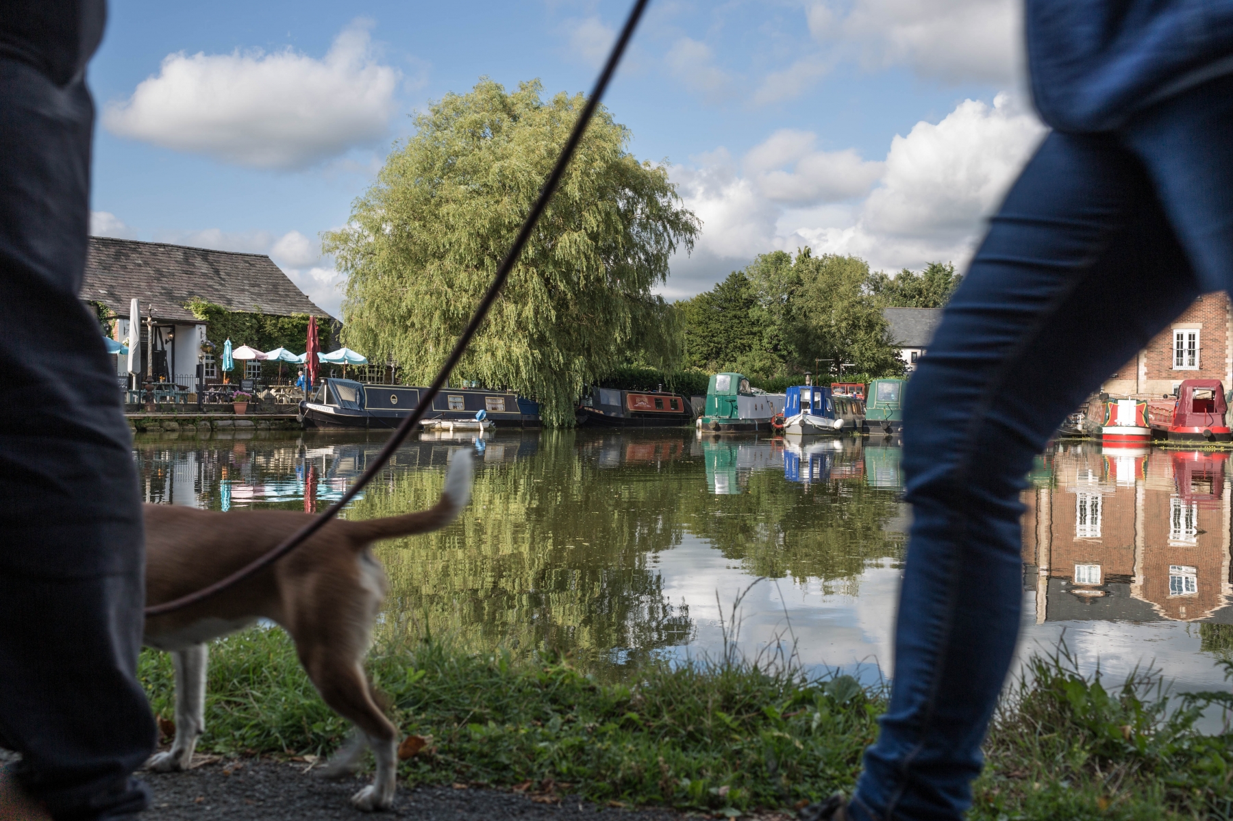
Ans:
{"label": "dark loose trousers of the person at the left edge", "polygon": [[0,743],[57,820],[144,809],[155,742],[132,439],[78,296],[92,121],[83,79],[0,58]]}

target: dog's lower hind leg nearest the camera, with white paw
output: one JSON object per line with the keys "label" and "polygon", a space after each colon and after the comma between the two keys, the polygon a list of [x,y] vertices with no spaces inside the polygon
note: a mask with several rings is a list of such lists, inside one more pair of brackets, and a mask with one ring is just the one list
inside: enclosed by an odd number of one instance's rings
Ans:
{"label": "dog's lower hind leg nearest the camera, with white paw", "polygon": [[309,650],[301,658],[321,698],[340,716],[355,722],[377,759],[372,784],[353,795],[351,804],[358,810],[388,810],[398,778],[398,730],[372,700],[360,662],[354,655],[348,656],[339,658],[337,652],[318,655]]}

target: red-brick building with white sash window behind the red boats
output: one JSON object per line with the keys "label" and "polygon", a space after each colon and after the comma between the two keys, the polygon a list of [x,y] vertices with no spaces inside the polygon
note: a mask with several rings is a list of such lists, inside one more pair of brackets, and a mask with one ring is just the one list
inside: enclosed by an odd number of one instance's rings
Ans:
{"label": "red-brick building with white sash window behind the red boats", "polygon": [[1233,390],[1233,309],[1223,291],[1195,300],[1101,390],[1117,397],[1159,397],[1182,380],[1197,378],[1221,380],[1224,390]]}

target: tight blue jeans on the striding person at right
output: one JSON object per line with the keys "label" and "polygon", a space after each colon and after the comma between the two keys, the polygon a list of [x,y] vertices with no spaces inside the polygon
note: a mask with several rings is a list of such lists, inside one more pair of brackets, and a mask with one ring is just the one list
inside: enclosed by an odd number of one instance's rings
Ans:
{"label": "tight blue jeans on the striding person at right", "polygon": [[1117,132],[1054,131],[993,219],[905,393],[894,683],[853,819],[970,806],[1018,634],[1025,476],[1105,377],[1233,281],[1231,133],[1231,79]]}

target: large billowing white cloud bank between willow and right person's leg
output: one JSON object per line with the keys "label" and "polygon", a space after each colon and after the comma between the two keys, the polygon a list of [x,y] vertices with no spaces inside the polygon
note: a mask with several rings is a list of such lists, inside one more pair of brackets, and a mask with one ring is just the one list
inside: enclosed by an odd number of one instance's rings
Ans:
{"label": "large billowing white cloud bank between willow and right person's leg", "polygon": [[752,149],[743,175],[724,149],[694,158],[693,168],[671,174],[703,219],[702,237],[693,256],[673,259],[663,292],[697,293],[757,254],[803,245],[856,254],[875,269],[967,265],[1043,133],[1030,111],[1000,94],[993,105],[965,100],[938,123],[916,123],[891,141],[883,163],[815,152],[814,136],[795,131]]}

